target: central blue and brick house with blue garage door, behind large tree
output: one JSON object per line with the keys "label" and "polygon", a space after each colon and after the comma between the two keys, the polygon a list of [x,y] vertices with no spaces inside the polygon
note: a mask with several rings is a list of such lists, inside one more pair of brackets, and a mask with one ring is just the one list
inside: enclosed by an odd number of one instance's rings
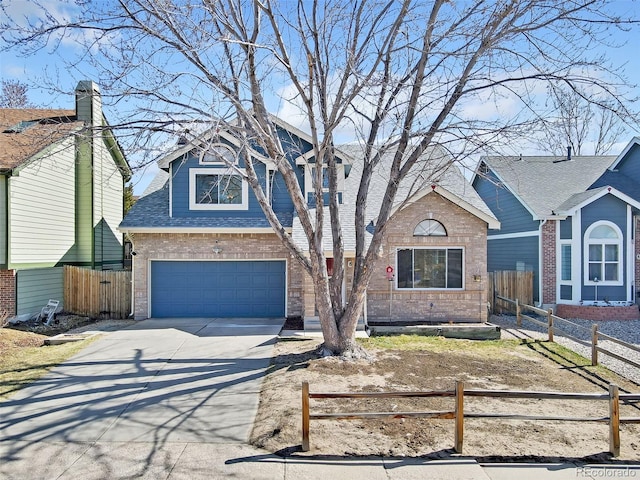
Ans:
{"label": "central blue and brick house with blue garage door, behind large tree", "polygon": [[[274,122],[311,201],[310,139]],[[223,160],[244,166],[236,145],[226,132],[179,145],[159,160],[160,174],[122,222],[135,251],[135,318],[317,316],[311,278],[278,240],[246,181]],[[337,152],[346,285],[355,257],[358,156],[352,146]],[[409,198],[387,226],[383,259],[367,292],[370,320],[486,321],[486,234],[499,224],[457,168],[445,165],[441,153],[432,156],[435,168],[424,168],[401,189],[401,198]],[[252,157],[275,213],[308,251],[282,176],[270,159],[258,152]],[[374,174],[367,201],[373,212],[382,202],[389,161],[383,158]],[[373,226],[375,218],[370,214],[366,221]],[[325,228],[331,271],[328,220]],[[391,281],[387,267],[395,273]]]}

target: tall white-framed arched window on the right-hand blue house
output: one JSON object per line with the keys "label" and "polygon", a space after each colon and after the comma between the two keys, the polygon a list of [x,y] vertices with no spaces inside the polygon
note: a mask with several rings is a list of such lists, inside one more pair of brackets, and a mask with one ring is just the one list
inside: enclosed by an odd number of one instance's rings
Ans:
{"label": "tall white-framed arched window on the right-hand blue house", "polygon": [[622,285],[622,231],[611,222],[596,222],[584,234],[585,283]]}

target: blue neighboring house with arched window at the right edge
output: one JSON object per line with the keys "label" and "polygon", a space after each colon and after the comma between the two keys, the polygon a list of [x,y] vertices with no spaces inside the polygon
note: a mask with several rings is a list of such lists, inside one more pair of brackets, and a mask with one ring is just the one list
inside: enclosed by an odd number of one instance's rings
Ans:
{"label": "blue neighboring house with arched window at the right edge", "polygon": [[569,316],[636,300],[639,138],[617,157],[483,158],[473,186],[502,227],[489,232],[489,271],[533,271],[536,302]]}

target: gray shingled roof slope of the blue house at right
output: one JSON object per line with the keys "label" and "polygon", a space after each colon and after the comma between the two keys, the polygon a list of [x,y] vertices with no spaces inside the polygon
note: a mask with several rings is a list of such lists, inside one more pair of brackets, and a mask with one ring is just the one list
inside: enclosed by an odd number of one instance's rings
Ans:
{"label": "gray shingled roof slope of the blue house at right", "polygon": [[572,196],[586,192],[616,160],[615,156],[484,157],[498,180],[527,208],[534,220],[552,218]]}

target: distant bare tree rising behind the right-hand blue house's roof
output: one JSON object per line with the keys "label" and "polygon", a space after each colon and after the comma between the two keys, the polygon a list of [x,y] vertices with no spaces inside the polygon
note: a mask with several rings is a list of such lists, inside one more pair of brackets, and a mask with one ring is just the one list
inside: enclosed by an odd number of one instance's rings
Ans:
{"label": "distant bare tree rising behind the right-hand blue house's roof", "polygon": [[589,99],[588,93],[558,84],[547,88],[552,111],[541,122],[539,146],[554,155],[567,147],[575,155],[606,155],[625,133],[623,120],[609,101]]}

